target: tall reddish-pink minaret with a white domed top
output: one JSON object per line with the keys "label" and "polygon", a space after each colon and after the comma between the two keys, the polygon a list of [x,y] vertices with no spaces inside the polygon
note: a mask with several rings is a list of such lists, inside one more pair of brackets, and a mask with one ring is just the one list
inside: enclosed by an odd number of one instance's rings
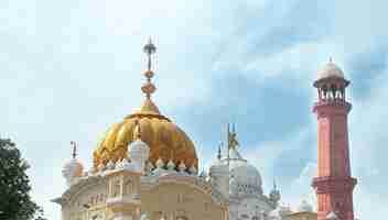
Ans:
{"label": "tall reddish-pink minaret with a white domed top", "polygon": [[351,173],[347,114],[352,105],[345,96],[348,85],[332,61],[314,82],[319,92],[313,108],[317,116],[319,170],[312,186],[317,197],[317,220],[325,220],[330,212],[338,220],[354,220],[353,189],[357,180]]}

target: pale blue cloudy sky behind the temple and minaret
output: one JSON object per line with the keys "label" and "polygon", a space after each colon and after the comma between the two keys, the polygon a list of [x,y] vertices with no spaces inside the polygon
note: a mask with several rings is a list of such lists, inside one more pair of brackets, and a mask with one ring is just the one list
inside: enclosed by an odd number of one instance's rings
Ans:
{"label": "pale blue cloudy sky behind the temple and minaret", "polygon": [[140,107],[149,36],[158,46],[154,100],[196,144],[203,167],[225,124],[240,151],[276,178],[283,202],[314,197],[316,98],[332,56],[348,79],[356,217],[388,206],[388,29],[381,0],[0,2],[0,134],[32,168],[33,198],[50,220],[65,189],[71,140],[91,165],[100,134]]}

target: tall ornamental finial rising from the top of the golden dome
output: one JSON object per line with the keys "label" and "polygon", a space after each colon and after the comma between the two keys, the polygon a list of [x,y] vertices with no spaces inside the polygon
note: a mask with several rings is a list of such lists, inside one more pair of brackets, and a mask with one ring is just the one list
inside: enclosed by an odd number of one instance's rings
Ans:
{"label": "tall ornamental finial rising from the top of the golden dome", "polygon": [[151,98],[151,94],[153,94],[157,88],[151,82],[151,79],[153,77],[153,72],[151,70],[152,67],[152,62],[151,62],[151,55],[157,52],[155,45],[153,45],[151,37],[149,38],[149,42],[144,45],[143,52],[147,54],[148,57],[148,65],[147,65],[147,70],[144,73],[144,76],[147,78],[147,82],[141,87],[141,90],[146,94],[147,98]]}

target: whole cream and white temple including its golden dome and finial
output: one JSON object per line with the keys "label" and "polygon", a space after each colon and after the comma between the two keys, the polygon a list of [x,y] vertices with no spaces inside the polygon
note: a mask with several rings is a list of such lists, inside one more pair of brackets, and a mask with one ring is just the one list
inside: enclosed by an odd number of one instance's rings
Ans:
{"label": "whole cream and white temple including its golden dome and finial", "polygon": [[305,200],[299,210],[283,206],[276,184],[266,194],[260,172],[239,152],[234,128],[228,128],[227,144],[219,147],[209,169],[198,174],[193,142],[152,101],[154,45],[149,42],[144,52],[149,64],[140,110],[108,129],[88,170],[72,143],[73,157],[63,168],[67,189],[53,199],[62,207],[62,220],[316,219]]}

